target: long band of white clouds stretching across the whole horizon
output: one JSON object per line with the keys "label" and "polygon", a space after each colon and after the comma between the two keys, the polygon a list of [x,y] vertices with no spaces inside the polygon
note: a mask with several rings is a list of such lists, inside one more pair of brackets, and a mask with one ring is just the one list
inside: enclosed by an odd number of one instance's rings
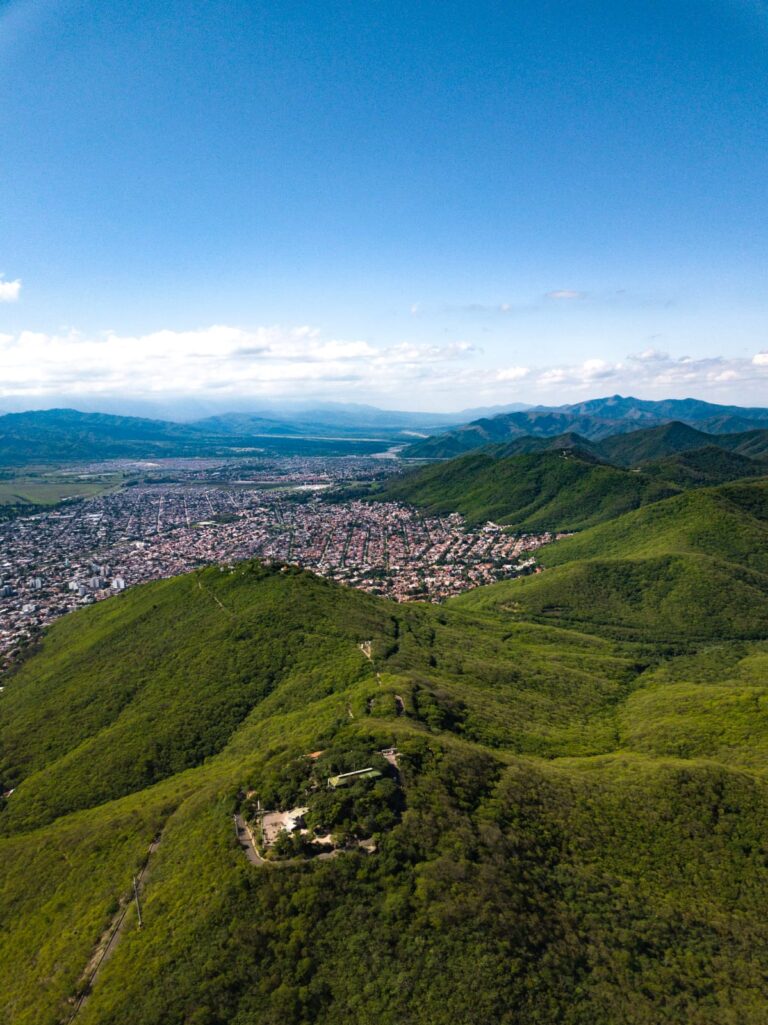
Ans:
{"label": "long band of white clouds stretching across the whole horizon", "polygon": [[559,404],[609,392],[761,405],[768,394],[768,351],[695,358],[648,348],[614,361],[488,365],[483,351],[467,341],[374,345],[326,338],[308,326],[213,325],[137,336],[22,331],[0,334],[0,403],[14,408],[186,397],[233,406],[313,399],[447,411]]}

